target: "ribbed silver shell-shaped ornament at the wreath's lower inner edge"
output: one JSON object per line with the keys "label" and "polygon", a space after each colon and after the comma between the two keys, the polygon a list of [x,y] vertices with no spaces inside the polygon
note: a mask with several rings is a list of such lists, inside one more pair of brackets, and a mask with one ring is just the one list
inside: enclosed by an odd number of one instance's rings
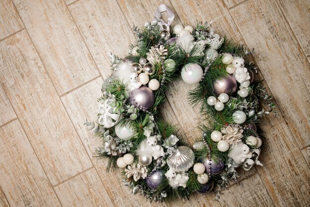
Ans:
{"label": "ribbed silver shell-shaped ornament at the wreath's lower inner edge", "polygon": [[175,172],[185,172],[194,164],[195,155],[191,148],[187,146],[179,146],[167,158],[168,166]]}

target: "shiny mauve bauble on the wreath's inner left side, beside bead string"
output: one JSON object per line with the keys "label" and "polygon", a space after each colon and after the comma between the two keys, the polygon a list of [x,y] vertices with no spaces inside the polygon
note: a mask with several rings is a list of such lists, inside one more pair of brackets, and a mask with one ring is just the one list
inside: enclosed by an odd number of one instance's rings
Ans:
{"label": "shiny mauve bauble on the wreath's inner left side, beside bead string", "polygon": [[144,109],[150,109],[155,103],[155,95],[153,90],[151,90],[147,86],[141,86],[140,88],[136,88],[131,91],[131,95],[133,96],[130,98],[130,103],[135,105],[136,107],[142,106]]}

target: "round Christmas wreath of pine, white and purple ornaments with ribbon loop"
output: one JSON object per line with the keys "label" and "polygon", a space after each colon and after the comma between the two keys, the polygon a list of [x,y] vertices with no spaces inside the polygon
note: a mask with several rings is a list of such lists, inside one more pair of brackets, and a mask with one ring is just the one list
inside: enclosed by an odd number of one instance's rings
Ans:
{"label": "round Christmas wreath of pine, white and purple ornaments with ribbon loop", "polygon": [[[86,123],[103,140],[95,156],[107,158],[107,171],[122,168],[124,185],[151,201],[185,199],[213,186],[219,199],[229,180],[237,182],[237,167],[262,165],[255,123],[275,104],[255,81],[253,51],[214,33],[211,23],[170,27],[174,14],[165,5],[155,16],[133,28],[137,42],[127,57],[109,55],[112,74],[102,86],[97,121]],[[200,105],[207,120],[193,146],[160,118],[166,85],[179,72],[196,86],[188,91],[189,103]]]}

